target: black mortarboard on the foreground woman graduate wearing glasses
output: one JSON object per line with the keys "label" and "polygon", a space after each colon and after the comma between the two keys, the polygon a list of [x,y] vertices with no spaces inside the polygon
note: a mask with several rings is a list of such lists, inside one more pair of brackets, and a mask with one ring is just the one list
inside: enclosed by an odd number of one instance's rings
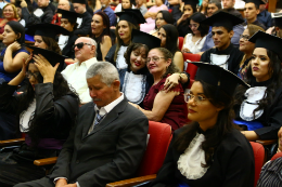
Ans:
{"label": "black mortarboard on the foreground woman graduate wearing glasses", "polygon": [[198,67],[196,80],[203,80],[208,84],[218,86],[220,90],[222,90],[230,96],[233,95],[238,84],[242,84],[246,88],[249,88],[249,85],[242,79],[240,79],[236,75],[227,69],[223,69],[220,66],[201,62],[193,62],[192,64]]}

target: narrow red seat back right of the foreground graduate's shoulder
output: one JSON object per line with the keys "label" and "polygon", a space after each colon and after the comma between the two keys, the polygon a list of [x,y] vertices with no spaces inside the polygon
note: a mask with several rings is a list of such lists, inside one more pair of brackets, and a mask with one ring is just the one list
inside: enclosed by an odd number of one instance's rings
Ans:
{"label": "narrow red seat back right of the foreground graduate's shoulder", "polygon": [[249,143],[253,147],[254,158],[255,158],[255,183],[254,183],[254,186],[256,187],[261,168],[262,168],[264,162],[265,162],[265,148],[261,144],[254,143],[254,142],[249,142]]}

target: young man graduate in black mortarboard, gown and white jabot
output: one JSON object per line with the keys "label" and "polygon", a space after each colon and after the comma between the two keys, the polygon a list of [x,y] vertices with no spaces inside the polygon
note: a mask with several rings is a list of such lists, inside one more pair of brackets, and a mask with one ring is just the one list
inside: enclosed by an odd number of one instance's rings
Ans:
{"label": "young man graduate in black mortarboard, gown and white jabot", "polygon": [[231,38],[234,34],[232,28],[243,22],[243,19],[222,11],[202,21],[201,24],[213,27],[211,34],[216,48],[204,52],[201,56],[201,62],[221,66],[236,75],[244,53],[231,43]]}

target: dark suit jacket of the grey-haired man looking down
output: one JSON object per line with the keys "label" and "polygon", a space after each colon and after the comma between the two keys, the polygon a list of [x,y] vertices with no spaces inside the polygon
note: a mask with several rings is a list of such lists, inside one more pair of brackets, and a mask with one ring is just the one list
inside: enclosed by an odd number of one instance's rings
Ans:
{"label": "dark suit jacket of the grey-haired man looking down", "polygon": [[134,175],[146,148],[146,117],[124,99],[88,134],[94,116],[93,103],[80,108],[50,179],[66,177],[81,187],[104,187]]}

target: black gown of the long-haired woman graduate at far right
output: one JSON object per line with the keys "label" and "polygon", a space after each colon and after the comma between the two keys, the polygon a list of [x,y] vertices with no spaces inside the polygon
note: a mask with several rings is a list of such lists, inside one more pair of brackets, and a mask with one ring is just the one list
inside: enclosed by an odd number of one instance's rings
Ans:
{"label": "black gown of the long-haired woman graduate at far right", "polygon": [[[251,86],[268,86],[271,81],[272,79],[265,82],[253,82],[251,83]],[[243,120],[240,117],[240,110],[241,105],[235,105],[235,120]],[[278,131],[282,126],[282,86],[275,90],[272,104],[264,109],[264,113],[254,121],[260,122],[264,125],[264,128],[255,130],[255,133],[259,136],[259,139],[278,138]]]}

